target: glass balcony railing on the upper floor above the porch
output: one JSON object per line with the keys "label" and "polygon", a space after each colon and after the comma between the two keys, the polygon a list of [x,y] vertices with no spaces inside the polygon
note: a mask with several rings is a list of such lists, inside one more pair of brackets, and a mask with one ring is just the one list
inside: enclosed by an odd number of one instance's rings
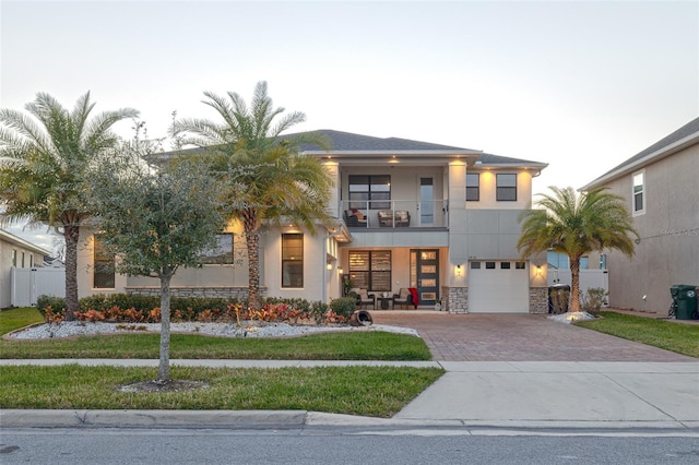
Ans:
{"label": "glass balcony railing on the upper floor above the porch", "polygon": [[342,216],[350,228],[445,228],[446,200],[342,201]]}

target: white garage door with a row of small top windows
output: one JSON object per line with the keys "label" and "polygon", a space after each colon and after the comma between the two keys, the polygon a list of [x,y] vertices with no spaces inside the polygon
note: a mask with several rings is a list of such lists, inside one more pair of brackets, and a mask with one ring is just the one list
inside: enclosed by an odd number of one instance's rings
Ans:
{"label": "white garage door with a row of small top windows", "polygon": [[526,262],[469,262],[469,313],[529,313]]}

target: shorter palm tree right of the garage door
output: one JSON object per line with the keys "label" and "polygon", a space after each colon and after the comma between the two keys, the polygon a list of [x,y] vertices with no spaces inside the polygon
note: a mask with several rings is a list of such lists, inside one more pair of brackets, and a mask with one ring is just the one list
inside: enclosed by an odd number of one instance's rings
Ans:
{"label": "shorter palm tree right of the garage door", "polygon": [[568,255],[571,274],[570,311],[580,311],[580,259],[592,251],[616,249],[633,257],[631,216],[624,199],[597,188],[576,195],[573,188],[549,188],[537,210],[520,214],[522,235],[517,242],[522,257],[554,250]]}

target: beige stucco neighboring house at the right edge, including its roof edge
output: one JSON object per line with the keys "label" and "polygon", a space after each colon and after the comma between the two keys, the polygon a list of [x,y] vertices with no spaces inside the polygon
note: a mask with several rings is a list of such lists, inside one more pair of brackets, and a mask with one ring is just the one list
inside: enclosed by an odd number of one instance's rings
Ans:
{"label": "beige stucco neighboring house at the right edge, including its roof edge", "polygon": [[699,285],[699,118],[581,188],[626,199],[636,255],[607,252],[609,306],[665,314],[675,284]]}

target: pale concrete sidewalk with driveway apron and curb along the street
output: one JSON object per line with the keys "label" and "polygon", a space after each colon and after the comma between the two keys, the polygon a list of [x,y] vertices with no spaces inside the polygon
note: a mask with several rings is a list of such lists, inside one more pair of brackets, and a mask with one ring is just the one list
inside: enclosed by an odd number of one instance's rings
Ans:
{"label": "pale concrete sidewalk with driveway apron and curb along the street", "polygon": [[[0,360],[2,366],[147,366],[157,360]],[[391,419],[292,412],[0,410],[3,427],[449,426],[662,429],[699,438],[699,361],[171,360],[173,366],[442,367],[447,373]]]}

